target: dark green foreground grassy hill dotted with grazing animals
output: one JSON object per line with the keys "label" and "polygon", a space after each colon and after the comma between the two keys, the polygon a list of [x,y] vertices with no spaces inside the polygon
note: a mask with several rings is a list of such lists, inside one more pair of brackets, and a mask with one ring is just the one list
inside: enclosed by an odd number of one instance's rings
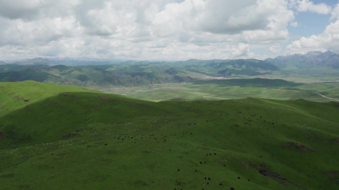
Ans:
{"label": "dark green foreground grassy hill dotted with grazing animals", "polygon": [[0,117],[2,189],[339,188],[338,103],[155,103],[38,84],[53,93]]}

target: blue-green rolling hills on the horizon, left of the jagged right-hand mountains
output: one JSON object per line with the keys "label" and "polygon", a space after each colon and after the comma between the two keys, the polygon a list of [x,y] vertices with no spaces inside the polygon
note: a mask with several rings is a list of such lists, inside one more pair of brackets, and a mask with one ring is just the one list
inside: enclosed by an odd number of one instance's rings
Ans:
{"label": "blue-green rolling hills on the horizon, left of the jagged right-hand mountains", "polygon": [[[74,65],[70,66],[72,63]],[[0,81],[36,80],[83,87],[140,86],[185,82],[211,76],[259,76],[279,70],[272,63],[255,59],[86,62],[85,66],[77,63],[44,58],[17,61],[0,65]]]}

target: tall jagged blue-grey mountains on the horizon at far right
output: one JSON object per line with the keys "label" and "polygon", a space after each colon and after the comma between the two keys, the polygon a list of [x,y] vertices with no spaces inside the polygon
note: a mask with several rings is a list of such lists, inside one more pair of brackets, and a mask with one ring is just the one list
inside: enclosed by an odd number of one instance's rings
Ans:
{"label": "tall jagged blue-grey mountains on the horizon at far right", "polygon": [[312,67],[332,67],[339,68],[339,54],[332,51],[324,53],[320,51],[310,51],[306,54],[293,54],[287,56],[278,56],[274,59],[266,59],[269,62],[282,63],[284,67],[295,66],[298,68]]}

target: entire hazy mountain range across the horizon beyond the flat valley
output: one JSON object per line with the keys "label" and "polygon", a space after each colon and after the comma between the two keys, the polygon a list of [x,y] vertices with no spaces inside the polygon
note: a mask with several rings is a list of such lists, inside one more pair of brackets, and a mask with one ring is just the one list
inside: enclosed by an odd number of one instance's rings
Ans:
{"label": "entire hazy mountain range across the horizon beyond the flat valley", "polygon": [[[253,77],[293,74],[298,70],[339,68],[339,54],[331,51],[278,56],[274,59],[165,61],[77,61],[34,58],[0,63],[0,81],[36,80],[59,84],[93,86],[138,86],[185,82],[214,77]],[[331,74],[332,75],[332,74]]]}

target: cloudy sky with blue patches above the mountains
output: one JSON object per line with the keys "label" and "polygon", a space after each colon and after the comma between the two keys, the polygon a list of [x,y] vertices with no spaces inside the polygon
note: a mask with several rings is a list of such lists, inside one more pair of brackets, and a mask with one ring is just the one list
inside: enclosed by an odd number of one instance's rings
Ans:
{"label": "cloudy sky with blue patches above the mountains", "polygon": [[0,60],[339,53],[339,0],[0,0]]}

